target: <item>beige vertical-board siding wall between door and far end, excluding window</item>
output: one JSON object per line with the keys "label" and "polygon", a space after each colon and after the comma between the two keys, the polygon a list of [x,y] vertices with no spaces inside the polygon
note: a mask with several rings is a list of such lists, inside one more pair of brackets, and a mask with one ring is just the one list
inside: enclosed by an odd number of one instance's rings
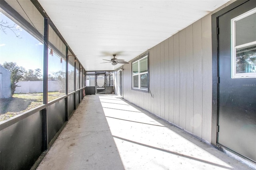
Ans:
{"label": "beige vertical-board siding wall between door and far end, excluding window", "polygon": [[124,99],[211,141],[211,15],[148,50],[150,93],[132,90],[124,67]]}

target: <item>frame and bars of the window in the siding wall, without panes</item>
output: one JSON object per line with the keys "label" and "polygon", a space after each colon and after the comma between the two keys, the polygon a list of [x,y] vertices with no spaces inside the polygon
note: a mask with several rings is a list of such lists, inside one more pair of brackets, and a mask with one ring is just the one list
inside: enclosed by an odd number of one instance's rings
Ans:
{"label": "frame and bars of the window in the siding wall, without panes", "polygon": [[[140,61],[145,59],[147,57],[147,71],[140,73]],[[138,73],[134,74],[133,73],[133,64],[138,62]],[[141,55],[140,57],[134,59],[134,61],[132,61],[132,90],[136,90],[136,91],[142,91],[142,92],[147,92],[149,93],[149,89],[150,89],[150,76],[149,76],[149,52],[145,53],[144,55]],[[141,87],[141,75],[147,74],[148,75],[148,88],[143,88]],[[138,87],[134,87],[134,77],[138,75]]]}

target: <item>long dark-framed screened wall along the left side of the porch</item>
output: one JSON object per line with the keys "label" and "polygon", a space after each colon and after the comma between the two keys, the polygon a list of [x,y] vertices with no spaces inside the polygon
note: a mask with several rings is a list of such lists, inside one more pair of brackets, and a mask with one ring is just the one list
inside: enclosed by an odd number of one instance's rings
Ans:
{"label": "long dark-framed screened wall along the left side of the porch", "polygon": [[0,169],[30,169],[82,101],[85,69],[32,1],[0,3]]}

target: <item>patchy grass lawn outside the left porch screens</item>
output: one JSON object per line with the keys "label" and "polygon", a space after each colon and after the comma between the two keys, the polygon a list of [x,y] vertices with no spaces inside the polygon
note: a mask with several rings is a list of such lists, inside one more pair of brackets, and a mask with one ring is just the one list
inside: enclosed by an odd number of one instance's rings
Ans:
{"label": "patchy grass lawn outside the left porch screens", "polygon": [[[52,101],[65,93],[48,92],[48,101]],[[0,121],[14,117],[20,113],[43,104],[43,93],[17,93],[11,98],[0,99]]]}

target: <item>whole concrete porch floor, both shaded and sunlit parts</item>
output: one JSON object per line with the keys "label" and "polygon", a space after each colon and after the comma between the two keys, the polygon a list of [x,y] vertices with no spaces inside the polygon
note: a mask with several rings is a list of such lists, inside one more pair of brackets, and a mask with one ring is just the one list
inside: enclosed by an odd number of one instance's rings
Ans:
{"label": "whole concrete porch floor, both shaded and sunlit parts", "polygon": [[87,95],[37,170],[249,170],[116,95]]}

